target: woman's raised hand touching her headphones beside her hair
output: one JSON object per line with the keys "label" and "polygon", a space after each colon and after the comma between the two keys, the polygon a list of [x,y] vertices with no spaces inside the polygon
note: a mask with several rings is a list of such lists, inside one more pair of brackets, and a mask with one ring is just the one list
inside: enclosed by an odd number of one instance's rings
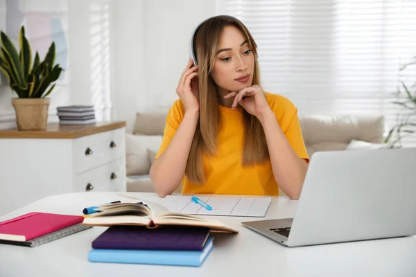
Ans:
{"label": "woman's raised hand touching her headphones beside her hair", "polygon": [[177,96],[185,106],[185,112],[199,111],[198,65],[189,60],[176,88]]}

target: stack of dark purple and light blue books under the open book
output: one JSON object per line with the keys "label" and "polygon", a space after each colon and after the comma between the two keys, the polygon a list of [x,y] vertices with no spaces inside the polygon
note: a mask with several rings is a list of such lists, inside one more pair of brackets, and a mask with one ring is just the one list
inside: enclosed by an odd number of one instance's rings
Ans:
{"label": "stack of dark purple and light blue books under the open book", "polygon": [[88,260],[200,267],[213,240],[206,227],[114,225],[92,242]]}

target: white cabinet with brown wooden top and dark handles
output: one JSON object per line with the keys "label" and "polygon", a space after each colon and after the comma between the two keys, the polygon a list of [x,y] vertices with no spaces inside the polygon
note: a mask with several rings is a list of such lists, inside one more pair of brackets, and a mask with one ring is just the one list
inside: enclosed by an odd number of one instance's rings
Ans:
{"label": "white cabinet with brown wooden top and dark handles", "polygon": [[85,191],[125,191],[124,122],[0,131],[0,215]]}

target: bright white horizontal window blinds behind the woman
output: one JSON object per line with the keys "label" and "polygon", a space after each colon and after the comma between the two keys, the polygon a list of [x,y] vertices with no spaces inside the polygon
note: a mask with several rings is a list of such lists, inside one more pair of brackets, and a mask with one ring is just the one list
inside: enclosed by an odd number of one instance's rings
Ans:
{"label": "bright white horizontal window blinds behind the woman", "polygon": [[416,55],[416,0],[217,3],[256,40],[263,87],[300,115],[381,114],[391,127],[404,111],[392,102],[402,78],[416,81],[415,69],[399,72]]}

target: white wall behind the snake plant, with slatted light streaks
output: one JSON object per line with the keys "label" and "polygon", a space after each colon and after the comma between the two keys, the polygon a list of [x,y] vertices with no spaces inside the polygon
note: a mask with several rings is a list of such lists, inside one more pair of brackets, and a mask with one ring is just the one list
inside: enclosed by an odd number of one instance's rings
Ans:
{"label": "white wall behind the snake plant, with slatted light streaks", "polygon": [[[56,107],[71,104],[94,105],[97,120],[110,120],[109,1],[42,2],[42,11],[47,15],[63,18],[64,32],[68,34],[69,69],[66,74],[69,74],[69,82],[57,84],[51,93],[49,122],[58,121]],[[32,3],[19,1],[19,7],[33,12],[37,5],[30,5]],[[55,6],[62,9],[57,10]],[[1,8],[4,10],[3,6]],[[3,22],[0,23],[4,26]],[[31,37],[28,39],[31,41]],[[0,86],[0,129],[16,126],[12,97],[17,95],[9,87]]]}

